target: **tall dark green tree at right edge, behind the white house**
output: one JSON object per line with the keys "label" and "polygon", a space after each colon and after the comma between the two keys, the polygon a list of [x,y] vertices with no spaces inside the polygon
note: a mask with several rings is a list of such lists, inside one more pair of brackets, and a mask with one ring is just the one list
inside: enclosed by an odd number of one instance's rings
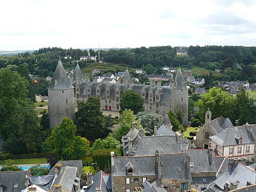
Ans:
{"label": "tall dark green tree at right edge, behind the white house", "polygon": [[234,116],[239,120],[239,124],[243,125],[246,122],[254,124],[256,121],[256,100],[250,98],[245,89],[241,86],[235,100]]}

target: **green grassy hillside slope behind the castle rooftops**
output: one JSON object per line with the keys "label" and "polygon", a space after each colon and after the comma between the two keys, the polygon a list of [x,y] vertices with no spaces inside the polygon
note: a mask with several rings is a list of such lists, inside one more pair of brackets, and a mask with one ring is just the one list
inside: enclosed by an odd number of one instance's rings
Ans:
{"label": "green grassy hillside slope behind the castle rooftops", "polygon": [[[93,62],[90,63],[88,66],[84,67],[82,69],[83,73],[88,73],[91,74],[92,70],[94,69],[99,69],[100,72],[105,73],[108,71],[116,71],[117,69],[119,69],[120,71],[125,71],[126,67],[123,67],[119,64],[116,63],[99,63],[99,62]],[[129,71],[135,71],[134,68],[127,68]]]}

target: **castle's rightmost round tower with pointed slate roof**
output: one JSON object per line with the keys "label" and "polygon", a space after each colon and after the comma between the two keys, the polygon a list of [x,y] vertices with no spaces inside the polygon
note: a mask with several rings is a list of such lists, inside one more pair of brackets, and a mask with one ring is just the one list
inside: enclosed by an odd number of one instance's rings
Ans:
{"label": "castle's rightmost round tower with pointed slate roof", "polygon": [[176,112],[179,108],[183,111],[183,126],[187,126],[188,122],[188,89],[186,81],[179,69],[172,89],[172,110]]}

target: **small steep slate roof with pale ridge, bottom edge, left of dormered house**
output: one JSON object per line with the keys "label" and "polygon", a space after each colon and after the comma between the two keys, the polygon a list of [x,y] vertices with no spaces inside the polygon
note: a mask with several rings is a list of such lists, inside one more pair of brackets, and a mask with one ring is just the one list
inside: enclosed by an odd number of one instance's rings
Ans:
{"label": "small steep slate roof with pale ridge, bottom edge, left of dormered house", "polygon": [[87,192],[95,192],[97,187],[100,187],[102,192],[112,191],[112,177],[106,175],[102,170],[95,174],[92,180],[93,183],[86,189]]}

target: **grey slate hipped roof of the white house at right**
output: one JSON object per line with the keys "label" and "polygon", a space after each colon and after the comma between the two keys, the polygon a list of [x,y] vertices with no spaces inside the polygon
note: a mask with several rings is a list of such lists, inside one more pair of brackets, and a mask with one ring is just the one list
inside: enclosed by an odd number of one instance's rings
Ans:
{"label": "grey slate hipped roof of the white house at right", "polygon": [[229,146],[238,144],[238,140],[236,139],[237,136],[242,138],[242,144],[254,143],[254,140],[250,132],[247,130],[246,125],[227,127],[227,129],[224,129],[222,132],[211,136],[210,138],[219,143],[221,146]]}

